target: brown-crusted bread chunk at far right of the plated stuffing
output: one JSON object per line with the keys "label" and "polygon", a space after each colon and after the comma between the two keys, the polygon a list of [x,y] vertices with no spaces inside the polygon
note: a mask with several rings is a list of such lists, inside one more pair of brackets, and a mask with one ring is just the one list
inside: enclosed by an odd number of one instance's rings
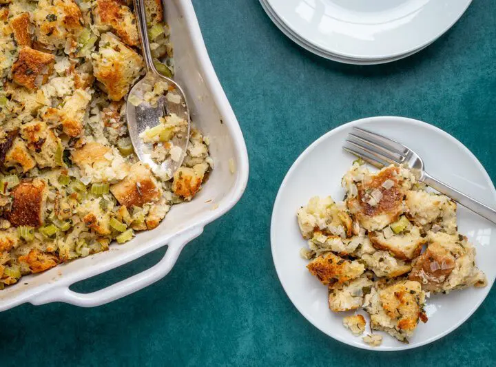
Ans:
{"label": "brown-crusted bread chunk at far right of the plated stuffing", "polygon": [[475,266],[475,249],[462,235],[428,232],[428,246],[413,261],[410,280],[431,292],[486,286],[486,275]]}

